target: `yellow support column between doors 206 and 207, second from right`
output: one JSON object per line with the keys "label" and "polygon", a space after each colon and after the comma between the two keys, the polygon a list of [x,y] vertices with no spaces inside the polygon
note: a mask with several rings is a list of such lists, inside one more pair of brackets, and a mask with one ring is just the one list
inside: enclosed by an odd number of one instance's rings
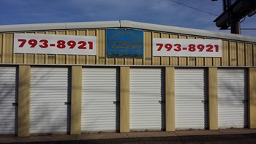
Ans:
{"label": "yellow support column between doors 206 and 207, second from right", "polygon": [[208,121],[209,129],[218,129],[217,68],[208,68]]}

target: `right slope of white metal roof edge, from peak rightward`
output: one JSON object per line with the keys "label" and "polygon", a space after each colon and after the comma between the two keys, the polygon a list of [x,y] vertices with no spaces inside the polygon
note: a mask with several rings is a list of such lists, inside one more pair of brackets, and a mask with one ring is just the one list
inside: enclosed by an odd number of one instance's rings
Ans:
{"label": "right slope of white metal roof edge, from peak rightward", "polygon": [[140,23],[140,22],[133,22],[129,20],[121,20],[121,27],[133,28],[133,29],[145,29],[145,30],[151,30],[151,31],[165,31],[165,32],[176,33],[176,34],[194,35],[199,37],[234,39],[238,41],[256,42],[256,37],[251,37],[251,36],[245,36],[245,35],[239,35],[239,34],[228,34],[228,33],[207,31],[207,30],[200,30],[200,29],[188,29],[188,28],[165,26],[165,25],[158,25],[158,24],[151,24],[151,23]]}

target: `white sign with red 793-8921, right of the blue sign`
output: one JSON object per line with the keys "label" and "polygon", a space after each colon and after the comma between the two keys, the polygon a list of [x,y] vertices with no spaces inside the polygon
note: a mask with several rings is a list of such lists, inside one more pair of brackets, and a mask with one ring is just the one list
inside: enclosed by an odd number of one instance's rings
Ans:
{"label": "white sign with red 793-8921, right of the blue sign", "polygon": [[153,56],[222,57],[222,40],[154,38]]}

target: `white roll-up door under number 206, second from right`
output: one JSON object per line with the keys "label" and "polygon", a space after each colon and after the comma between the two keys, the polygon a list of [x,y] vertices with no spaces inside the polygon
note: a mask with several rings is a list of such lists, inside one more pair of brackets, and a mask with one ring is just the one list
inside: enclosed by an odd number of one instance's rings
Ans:
{"label": "white roll-up door under number 206, second from right", "polygon": [[207,96],[204,69],[175,69],[176,129],[206,129]]}

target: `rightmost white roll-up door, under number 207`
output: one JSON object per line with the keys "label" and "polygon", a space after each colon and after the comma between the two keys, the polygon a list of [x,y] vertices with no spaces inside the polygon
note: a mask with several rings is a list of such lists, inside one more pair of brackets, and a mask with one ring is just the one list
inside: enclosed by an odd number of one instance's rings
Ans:
{"label": "rightmost white roll-up door, under number 207", "polygon": [[244,69],[218,69],[218,124],[220,129],[247,125]]}

